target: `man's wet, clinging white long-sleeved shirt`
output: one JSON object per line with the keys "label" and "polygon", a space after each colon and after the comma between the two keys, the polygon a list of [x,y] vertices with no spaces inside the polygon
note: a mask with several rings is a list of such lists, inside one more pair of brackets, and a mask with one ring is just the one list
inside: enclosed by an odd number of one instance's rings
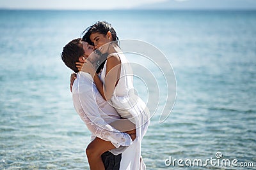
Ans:
{"label": "man's wet, clinging white long-sleeved shirt", "polygon": [[111,107],[102,96],[100,96],[97,87],[93,83],[92,76],[88,73],[78,73],[72,87],[72,99],[74,108],[92,132],[92,140],[98,138],[110,141],[116,148],[113,154],[117,155],[124,152],[125,147],[132,144],[131,137],[123,132],[120,132],[109,123],[119,119],[120,116],[116,110]]}

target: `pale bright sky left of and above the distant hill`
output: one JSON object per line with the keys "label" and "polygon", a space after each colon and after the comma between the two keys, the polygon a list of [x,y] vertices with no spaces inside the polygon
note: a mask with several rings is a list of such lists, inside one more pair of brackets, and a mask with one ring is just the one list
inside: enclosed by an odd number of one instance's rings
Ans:
{"label": "pale bright sky left of and above the distant hill", "polygon": [[0,8],[55,10],[118,10],[168,0],[0,0]]}

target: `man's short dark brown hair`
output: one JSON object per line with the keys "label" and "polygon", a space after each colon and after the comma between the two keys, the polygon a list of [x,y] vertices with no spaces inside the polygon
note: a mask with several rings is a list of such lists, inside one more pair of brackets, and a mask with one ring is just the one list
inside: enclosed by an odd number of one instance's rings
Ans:
{"label": "man's short dark brown hair", "polygon": [[81,38],[73,39],[63,47],[61,59],[67,67],[78,73],[76,62],[79,62],[79,57],[84,55],[83,43]]}

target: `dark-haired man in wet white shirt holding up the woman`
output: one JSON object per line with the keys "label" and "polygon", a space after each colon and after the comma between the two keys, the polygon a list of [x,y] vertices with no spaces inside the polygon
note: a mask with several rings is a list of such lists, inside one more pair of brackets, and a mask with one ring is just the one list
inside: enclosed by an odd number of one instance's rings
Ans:
{"label": "dark-haired man in wet white shirt holding up the woman", "polygon": [[[61,58],[66,66],[77,73],[76,62],[84,62],[92,52],[93,46],[78,38],[63,48]],[[77,113],[92,132],[92,139],[97,136],[111,141],[118,148],[102,154],[105,168],[119,169],[121,153],[125,149],[122,146],[129,146],[132,141],[128,134],[116,131],[109,125],[120,119],[118,113],[100,96],[92,77],[87,73],[77,73],[77,79],[72,86],[72,99]]]}

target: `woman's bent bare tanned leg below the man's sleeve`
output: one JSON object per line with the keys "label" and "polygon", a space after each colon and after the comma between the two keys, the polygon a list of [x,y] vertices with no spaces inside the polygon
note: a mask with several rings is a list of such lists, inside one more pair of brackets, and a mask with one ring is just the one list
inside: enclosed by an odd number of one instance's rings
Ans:
{"label": "woman's bent bare tanned leg below the man's sleeve", "polygon": [[115,148],[109,141],[95,138],[86,148],[86,155],[91,170],[104,170],[104,164],[101,155],[108,150]]}

